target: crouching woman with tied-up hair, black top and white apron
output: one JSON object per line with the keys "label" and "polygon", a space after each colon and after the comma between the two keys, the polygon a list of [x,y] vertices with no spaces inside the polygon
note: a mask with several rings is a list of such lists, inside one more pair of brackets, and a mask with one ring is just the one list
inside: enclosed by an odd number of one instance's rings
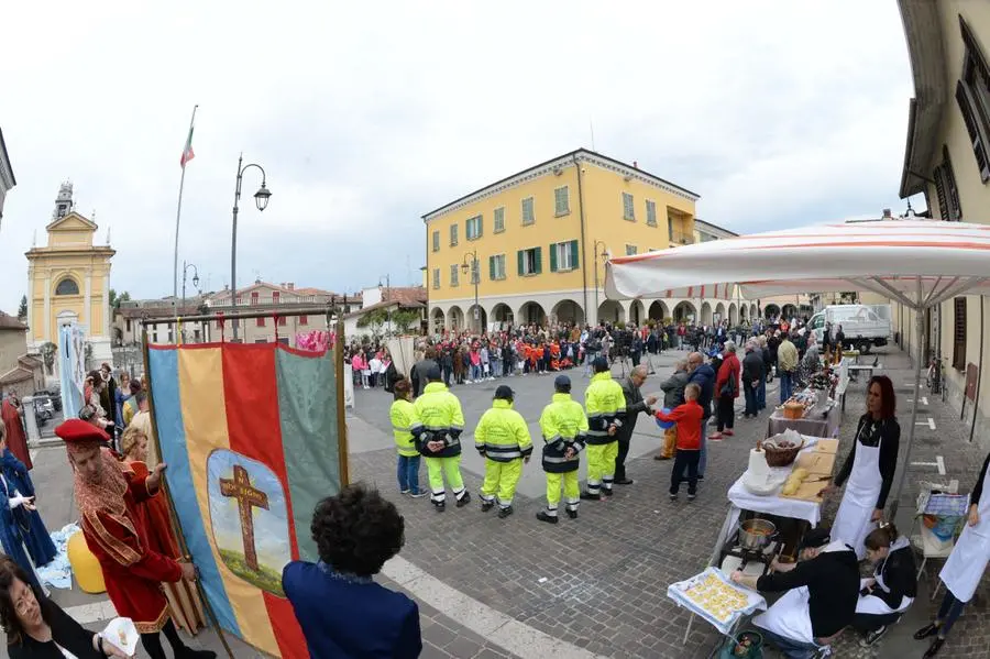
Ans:
{"label": "crouching woman with tied-up hair, black top and white apron", "polygon": [[865,633],[861,645],[870,647],[887,633],[917,595],[917,574],[911,542],[898,535],[892,524],[880,528],[866,539],[867,558],[877,563],[872,579],[860,583],[859,602],[853,626]]}

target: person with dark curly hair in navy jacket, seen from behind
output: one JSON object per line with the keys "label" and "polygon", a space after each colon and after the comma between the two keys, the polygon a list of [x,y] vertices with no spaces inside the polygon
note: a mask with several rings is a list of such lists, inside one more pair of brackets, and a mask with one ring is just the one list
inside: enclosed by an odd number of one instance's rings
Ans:
{"label": "person with dark curly hair in navy jacket, seen from behind", "polygon": [[359,483],[317,504],[318,563],[293,561],[282,587],[314,659],[419,657],[419,607],[372,579],[405,542],[395,505]]}

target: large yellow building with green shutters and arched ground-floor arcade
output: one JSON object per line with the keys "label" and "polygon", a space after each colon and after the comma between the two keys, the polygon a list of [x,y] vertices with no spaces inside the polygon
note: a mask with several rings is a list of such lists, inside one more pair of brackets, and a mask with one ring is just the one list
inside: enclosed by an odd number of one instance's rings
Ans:
{"label": "large yellow building with green shutters and arched ground-floor arcade", "polygon": [[714,309],[700,298],[606,300],[603,289],[606,255],[694,242],[697,199],[579,149],[446,204],[422,216],[430,330],[700,318]]}

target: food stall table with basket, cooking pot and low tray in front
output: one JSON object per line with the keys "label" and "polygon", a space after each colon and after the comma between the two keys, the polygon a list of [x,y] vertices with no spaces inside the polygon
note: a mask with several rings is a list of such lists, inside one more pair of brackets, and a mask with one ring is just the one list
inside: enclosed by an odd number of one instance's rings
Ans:
{"label": "food stall table with basket, cooking pot and low tray in front", "polygon": [[[735,570],[762,575],[774,558],[796,560],[800,538],[822,519],[818,494],[832,479],[837,450],[837,439],[787,430],[750,451],[746,472],[728,490],[729,509],[705,570],[668,587],[668,596],[692,613],[685,644],[695,616],[737,639],[744,620],[766,609],[767,602],[759,593],[733,584],[728,575]],[[713,579],[729,587],[717,586]],[[708,584],[717,594],[705,597],[708,591],[698,591],[701,584]],[[747,595],[745,602],[730,589]]]}

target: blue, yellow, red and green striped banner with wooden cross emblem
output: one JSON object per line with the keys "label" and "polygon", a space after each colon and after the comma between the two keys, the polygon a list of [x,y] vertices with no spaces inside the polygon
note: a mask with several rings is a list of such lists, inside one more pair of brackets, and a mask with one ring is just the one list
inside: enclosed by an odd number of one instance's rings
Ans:
{"label": "blue, yellow, red and green striped banner with wooden cross emblem", "polygon": [[148,348],[166,481],[218,623],[276,657],[307,658],[282,570],[319,559],[312,512],[341,487],[332,353]]}

